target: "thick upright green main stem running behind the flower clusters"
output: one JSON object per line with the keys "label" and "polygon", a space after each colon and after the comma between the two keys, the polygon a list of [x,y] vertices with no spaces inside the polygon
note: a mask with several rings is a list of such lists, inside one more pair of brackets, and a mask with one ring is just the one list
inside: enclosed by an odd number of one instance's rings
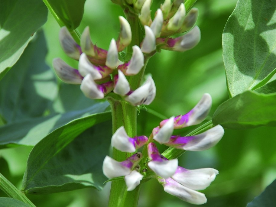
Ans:
{"label": "thick upright green main stem running behind the flower clusters", "polygon": [[[131,44],[126,48],[126,52],[132,52],[132,46],[140,45],[143,39],[143,30],[141,29],[138,16],[131,13],[128,8],[123,8],[126,19],[132,29],[132,41]],[[132,90],[137,89],[141,85],[141,80],[144,75],[144,70],[148,58],[145,61],[143,69],[135,76],[131,76],[129,79],[129,85]],[[119,102],[110,99],[112,113],[112,130],[113,133],[120,127],[124,126],[128,136],[134,137],[137,135],[137,110],[136,107],[131,106],[125,102]],[[124,153],[113,148],[113,159],[122,161],[129,157],[130,153]],[[109,207],[135,207],[138,204],[139,194],[141,185],[137,186],[132,191],[126,190],[124,180],[112,181],[110,196],[109,196]]]}

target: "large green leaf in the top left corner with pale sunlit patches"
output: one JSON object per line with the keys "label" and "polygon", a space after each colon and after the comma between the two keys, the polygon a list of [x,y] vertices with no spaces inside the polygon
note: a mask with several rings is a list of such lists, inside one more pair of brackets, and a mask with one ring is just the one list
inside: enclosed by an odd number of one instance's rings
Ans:
{"label": "large green leaf in the top left corner with pale sunlit patches", "polygon": [[0,80],[46,20],[47,7],[42,1],[0,1]]}

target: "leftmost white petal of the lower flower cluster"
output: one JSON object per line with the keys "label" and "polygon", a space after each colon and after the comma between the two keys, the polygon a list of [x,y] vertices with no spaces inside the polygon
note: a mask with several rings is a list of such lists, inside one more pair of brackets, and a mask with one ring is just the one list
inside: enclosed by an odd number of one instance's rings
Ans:
{"label": "leftmost white petal of the lower flower cluster", "polygon": [[122,166],[120,162],[112,159],[109,156],[103,160],[102,163],[103,174],[109,179],[128,175],[131,170],[125,166]]}

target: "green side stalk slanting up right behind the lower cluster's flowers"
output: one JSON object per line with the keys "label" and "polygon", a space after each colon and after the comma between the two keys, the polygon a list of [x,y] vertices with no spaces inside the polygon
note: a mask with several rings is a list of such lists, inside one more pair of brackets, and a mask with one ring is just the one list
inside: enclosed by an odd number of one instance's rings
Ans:
{"label": "green side stalk slanting up right behind the lower cluster's flowers", "polygon": [[[200,134],[200,133],[202,133],[204,131],[207,131],[208,129],[212,128],[213,126],[214,125],[213,125],[212,121],[208,121],[207,123],[200,126],[199,128],[196,128],[194,131],[190,132],[186,136],[188,137],[188,136]],[[180,149],[176,149],[174,147],[169,147],[167,150],[165,150],[162,153],[162,155],[164,157],[166,157],[167,159],[171,160],[171,159],[175,159],[175,158],[180,157],[184,152],[186,152],[186,150],[180,150]]]}

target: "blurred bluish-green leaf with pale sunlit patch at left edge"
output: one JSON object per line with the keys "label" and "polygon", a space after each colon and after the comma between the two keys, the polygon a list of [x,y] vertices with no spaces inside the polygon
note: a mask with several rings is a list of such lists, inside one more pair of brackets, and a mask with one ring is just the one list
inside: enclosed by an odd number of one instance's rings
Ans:
{"label": "blurred bluish-green leaf with pale sunlit patch at left edge", "polygon": [[0,82],[0,113],[7,123],[42,116],[57,96],[56,78],[44,62],[46,54],[44,34],[39,31]]}

